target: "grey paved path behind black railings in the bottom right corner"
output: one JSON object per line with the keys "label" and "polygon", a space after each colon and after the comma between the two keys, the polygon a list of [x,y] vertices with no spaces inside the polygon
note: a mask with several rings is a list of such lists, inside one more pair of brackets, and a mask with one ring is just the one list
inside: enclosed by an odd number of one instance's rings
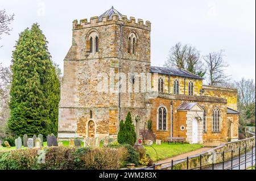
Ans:
{"label": "grey paved path behind black railings in the bottom right corner", "polygon": [[[247,151],[247,154],[251,154],[251,150]],[[255,165],[255,147],[253,148],[253,165]],[[239,167],[239,159],[238,157],[234,157],[233,159],[233,170],[245,170],[248,167],[251,167],[251,155],[246,155],[246,167],[245,167],[245,154],[241,154],[240,157],[240,167]],[[236,159],[237,158],[237,159]],[[242,164],[244,163],[244,164]],[[242,164],[242,165],[241,165]],[[214,170],[222,170],[222,163],[214,164]],[[224,163],[224,170],[230,170],[231,169],[231,161],[227,161]],[[203,170],[212,170],[211,167],[204,168]]]}

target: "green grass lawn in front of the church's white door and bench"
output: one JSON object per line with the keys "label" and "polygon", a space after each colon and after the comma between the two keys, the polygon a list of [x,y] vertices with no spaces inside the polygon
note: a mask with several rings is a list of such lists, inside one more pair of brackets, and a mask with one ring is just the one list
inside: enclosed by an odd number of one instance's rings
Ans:
{"label": "green grass lawn in front of the church's white door and bench", "polygon": [[[165,159],[165,158],[170,158],[174,157],[175,155],[181,154],[181,153],[187,153],[189,151],[193,151],[199,148],[202,148],[203,145],[198,145],[198,144],[181,144],[181,143],[166,143],[162,142],[161,145],[155,145],[153,144],[152,147],[156,150],[158,153],[158,161]],[[150,155],[150,158],[153,161],[156,161],[156,153],[151,146],[144,146],[146,148],[146,153]]]}

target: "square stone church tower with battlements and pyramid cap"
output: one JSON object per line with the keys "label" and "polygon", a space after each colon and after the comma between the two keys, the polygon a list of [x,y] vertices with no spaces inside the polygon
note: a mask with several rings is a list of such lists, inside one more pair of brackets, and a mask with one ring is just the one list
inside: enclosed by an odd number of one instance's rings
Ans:
{"label": "square stone church tower with battlements and pyramid cap", "polygon": [[144,127],[150,118],[142,88],[150,72],[150,30],[150,22],[127,19],[113,7],[89,21],[73,21],[61,83],[60,139],[116,137],[128,111]]}

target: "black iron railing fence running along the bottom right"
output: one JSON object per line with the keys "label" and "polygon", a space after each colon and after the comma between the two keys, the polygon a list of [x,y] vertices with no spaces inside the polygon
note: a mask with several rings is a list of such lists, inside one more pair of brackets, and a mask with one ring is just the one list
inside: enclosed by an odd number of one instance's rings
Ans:
{"label": "black iron railing fence running along the bottom right", "polygon": [[255,145],[154,164],[144,170],[245,170],[255,166]]}

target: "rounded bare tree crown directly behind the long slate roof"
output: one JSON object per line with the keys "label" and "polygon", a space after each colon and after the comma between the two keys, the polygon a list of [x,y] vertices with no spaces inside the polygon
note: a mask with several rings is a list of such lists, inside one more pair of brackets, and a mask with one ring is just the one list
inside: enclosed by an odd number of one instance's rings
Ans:
{"label": "rounded bare tree crown directly behind the long slate roof", "polygon": [[203,62],[200,61],[200,52],[191,45],[176,43],[174,47],[170,49],[167,61],[164,66],[171,68],[176,66],[190,71],[191,73],[204,76]]}

